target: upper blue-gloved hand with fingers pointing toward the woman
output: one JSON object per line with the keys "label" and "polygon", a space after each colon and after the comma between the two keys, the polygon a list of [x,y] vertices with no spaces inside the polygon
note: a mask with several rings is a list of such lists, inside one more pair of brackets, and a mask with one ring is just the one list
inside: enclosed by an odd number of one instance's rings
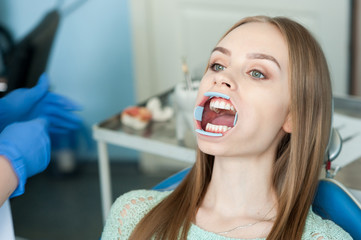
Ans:
{"label": "upper blue-gloved hand with fingers pointing toward the woman", "polygon": [[16,89],[0,99],[0,131],[16,121],[44,117],[51,133],[77,129],[82,120],[72,111],[81,107],[66,97],[48,91],[49,80],[44,73],[33,88]]}

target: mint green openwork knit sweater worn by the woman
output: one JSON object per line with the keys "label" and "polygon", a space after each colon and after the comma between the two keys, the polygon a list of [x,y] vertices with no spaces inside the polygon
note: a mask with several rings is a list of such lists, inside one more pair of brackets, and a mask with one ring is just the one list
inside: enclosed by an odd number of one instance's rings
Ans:
{"label": "mint green openwork knit sweater worn by the woman", "polygon": [[[102,240],[128,239],[138,222],[170,192],[153,190],[136,190],[120,196],[113,204],[106,221]],[[187,239],[190,240],[234,240],[212,232],[208,232],[192,224]],[[263,239],[263,238],[262,238]],[[349,240],[348,233],[329,220],[322,220],[310,210],[303,240]],[[253,240],[261,240],[253,239]]]}

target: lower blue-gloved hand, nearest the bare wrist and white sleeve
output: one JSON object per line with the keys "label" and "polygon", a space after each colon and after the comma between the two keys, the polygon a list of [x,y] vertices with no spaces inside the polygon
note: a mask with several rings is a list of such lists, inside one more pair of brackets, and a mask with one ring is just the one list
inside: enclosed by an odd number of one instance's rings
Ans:
{"label": "lower blue-gloved hand, nearest the bare wrist and white sleeve", "polygon": [[7,126],[0,134],[0,155],[11,163],[19,180],[11,197],[24,193],[26,179],[45,170],[50,161],[48,122],[37,118]]}

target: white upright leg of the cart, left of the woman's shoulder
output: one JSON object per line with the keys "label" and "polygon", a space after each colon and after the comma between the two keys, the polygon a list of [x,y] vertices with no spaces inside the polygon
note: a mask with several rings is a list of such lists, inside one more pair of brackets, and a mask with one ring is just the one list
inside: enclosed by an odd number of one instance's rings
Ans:
{"label": "white upright leg of the cart, left of the woman's shoulder", "polygon": [[112,186],[110,182],[108,149],[107,144],[103,141],[98,141],[98,156],[103,223],[105,223],[112,205]]}

